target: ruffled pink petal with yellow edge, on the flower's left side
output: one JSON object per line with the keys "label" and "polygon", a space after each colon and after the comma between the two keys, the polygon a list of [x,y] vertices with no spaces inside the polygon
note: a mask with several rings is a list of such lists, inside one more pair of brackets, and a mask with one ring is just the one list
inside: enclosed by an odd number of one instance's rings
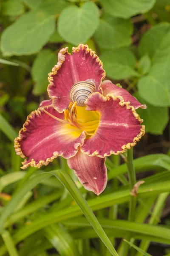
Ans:
{"label": "ruffled pink petal with yellow edge, on the flower's left side", "polygon": [[54,119],[43,109],[58,119],[64,119],[64,114],[58,113],[52,105],[31,112],[14,145],[18,155],[28,157],[22,169],[28,166],[40,168],[57,156],[73,157],[85,140],[85,132]]}

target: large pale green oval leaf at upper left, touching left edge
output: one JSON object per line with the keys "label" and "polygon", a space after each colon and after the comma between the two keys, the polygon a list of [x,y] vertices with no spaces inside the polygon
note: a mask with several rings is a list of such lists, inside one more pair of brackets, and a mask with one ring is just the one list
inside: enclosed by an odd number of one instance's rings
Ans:
{"label": "large pale green oval leaf at upper left, touching left edge", "polygon": [[29,55],[38,52],[55,30],[55,19],[45,12],[28,12],[8,26],[1,37],[3,55]]}

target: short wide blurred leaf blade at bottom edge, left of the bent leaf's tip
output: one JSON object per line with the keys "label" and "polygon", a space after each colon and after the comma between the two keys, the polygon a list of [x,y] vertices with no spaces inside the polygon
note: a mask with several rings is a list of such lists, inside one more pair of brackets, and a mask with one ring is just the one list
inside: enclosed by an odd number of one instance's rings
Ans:
{"label": "short wide blurred leaf blade at bottom edge, left of the bent leaf's tip", "polygon": [[45,227],[45,236],[61,256],[79,256],[74,239],[62,225]]}

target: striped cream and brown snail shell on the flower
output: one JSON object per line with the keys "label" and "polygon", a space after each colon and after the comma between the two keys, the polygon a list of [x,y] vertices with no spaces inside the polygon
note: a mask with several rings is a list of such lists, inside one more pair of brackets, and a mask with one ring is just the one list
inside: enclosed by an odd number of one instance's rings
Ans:
{"label": "striped cream and brown snail shell on the flower", "polygon": [[85,106],[85,100],[91,93],[96,91],[96,86],[91,81],[80,81],[74,84],[70,90],[70,99],[71,101],[77,102],[77,105],[80,107]]}

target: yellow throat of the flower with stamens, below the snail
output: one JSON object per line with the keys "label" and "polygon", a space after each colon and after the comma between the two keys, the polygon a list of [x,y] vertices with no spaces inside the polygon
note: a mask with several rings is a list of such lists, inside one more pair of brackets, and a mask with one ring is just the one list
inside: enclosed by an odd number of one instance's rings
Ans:
{"label": "yellow throat of the flower with stamens, below the snail", "polygon": [[71,102],[68,110],[65,110],[65,120],[82,131],[86,131],[88,135],[93,135],[99,125],[100,114],[97,111],[87,111],[85,107],[79,107]]}

